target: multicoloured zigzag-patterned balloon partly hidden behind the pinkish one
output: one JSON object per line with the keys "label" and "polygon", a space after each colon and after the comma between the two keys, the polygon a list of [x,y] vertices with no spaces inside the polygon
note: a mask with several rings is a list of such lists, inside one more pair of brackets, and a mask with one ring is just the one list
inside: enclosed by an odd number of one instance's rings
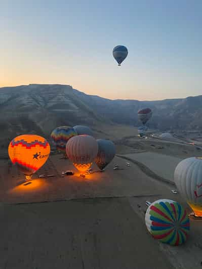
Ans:
{"label": "multicoloured zigzag-patterned balloon partly hidden behind the pinkish one", "polygon": [[70,126],[57,127],[51,133],[51,138],[53,139],[57,150],[64,155],[66,155],[67,141],[74,136],[77,136],[77,132]]}

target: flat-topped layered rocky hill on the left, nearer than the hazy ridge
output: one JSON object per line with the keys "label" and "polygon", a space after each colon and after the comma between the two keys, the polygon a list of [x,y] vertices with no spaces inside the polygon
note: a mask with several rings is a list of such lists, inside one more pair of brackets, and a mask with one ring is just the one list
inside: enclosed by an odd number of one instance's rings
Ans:
{"label": "flat-topped layered rocky hill on the left, nearer than the hazy ridge", "polygon": [[103,120],[69,85],[30,84],[0,88],[0,112],[0,142],[22,133],[37,133],[48,138],[60,125],[93,126]]}

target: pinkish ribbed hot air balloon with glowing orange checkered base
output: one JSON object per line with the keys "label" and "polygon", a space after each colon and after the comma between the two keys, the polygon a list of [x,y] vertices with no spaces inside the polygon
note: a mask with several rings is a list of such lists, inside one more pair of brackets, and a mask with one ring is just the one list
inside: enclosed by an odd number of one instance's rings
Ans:
{"label": "pinkish ribbed hot air balloon with glowing orange checkered base", "polygon": [[66,144],[66,152],[79,171],[88,170],[98,153],[97,141],[87,135],[72,137]]}

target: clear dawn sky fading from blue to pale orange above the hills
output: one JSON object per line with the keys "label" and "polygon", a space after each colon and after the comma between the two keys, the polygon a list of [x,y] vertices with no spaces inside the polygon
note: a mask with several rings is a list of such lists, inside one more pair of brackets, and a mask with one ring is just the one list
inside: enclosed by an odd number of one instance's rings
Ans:
{"label": "clear dawn sky fading from blue to pale orange above the hills", "polygon": [[[202,1],[0,0],[0,87],[68,84],[109,99],[202,93]],[[129,54],[118,67],[117,45]]]}

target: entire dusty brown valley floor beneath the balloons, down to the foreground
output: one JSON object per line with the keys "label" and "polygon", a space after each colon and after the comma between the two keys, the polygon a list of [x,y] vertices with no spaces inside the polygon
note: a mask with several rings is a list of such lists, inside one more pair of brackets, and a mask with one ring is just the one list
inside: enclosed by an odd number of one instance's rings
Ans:
{"label": "entire dusty brown valley floor beneath the balloons, down to the foreground", "polygon": [[[200,156],[200,150],[139,139],[133,127],[103,126],[95,135],[113,140],[120,155],[105,172],[86,178],[68,160],[51,155],[24,185],[16,167],[0,161],[0,268],[201,268],[201,221],[191,219],[189,240],[181,247],[153,240],[144,222],[146,200],[173,199],[190,211],[171,192],[171,174],[178,161]],[[132,160],[130,167],[124,158]],[[113,170],[116,163],[125,169]],[[75,174],[61,177],[67,169]],[[54,177],[38,178],[47,173]]]}

